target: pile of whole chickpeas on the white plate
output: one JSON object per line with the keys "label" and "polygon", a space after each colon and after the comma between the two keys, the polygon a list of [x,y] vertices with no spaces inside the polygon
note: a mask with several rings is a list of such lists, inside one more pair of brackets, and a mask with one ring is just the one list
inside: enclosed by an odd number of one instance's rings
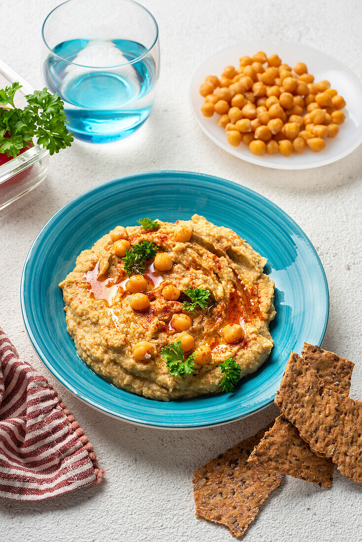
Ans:
{"label": "pile of whole chickpeas on the white plate", "polygon": [[200,86],[205,117],[220,115],[230,145],[249,145],[253,154],[319,152],[345,120],[345,100],[329,81],[314,82],[303,62],[292,69],[278,55],[259,51],[242,56],[238,69],[226,66],[221,77],[208,75]]}

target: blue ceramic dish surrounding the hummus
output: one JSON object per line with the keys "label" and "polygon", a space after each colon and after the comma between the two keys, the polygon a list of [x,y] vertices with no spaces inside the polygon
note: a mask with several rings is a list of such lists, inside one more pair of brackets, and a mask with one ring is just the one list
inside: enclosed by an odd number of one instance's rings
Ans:
{"label": "blue ceramic dish surrounding the hummus", "polygon": [[[274,348],[253,375],[232,393],[163,403],[119,390],[77,356],[66,330],[58,283],[118,224],[149,216],[188,220],[194,213],[232,228],[268,257],[275,281]],[[200,173],[153,171],[115,179],[72,199],[50,218],[31,247],[21,282],[23,318],[31,343],[53,376],[80,399],[132,423],[196,428],[231,422],[271,403],[291,350],[320,345],[328,320],[328,286],[308,237],[268,199],[228,180]]]}

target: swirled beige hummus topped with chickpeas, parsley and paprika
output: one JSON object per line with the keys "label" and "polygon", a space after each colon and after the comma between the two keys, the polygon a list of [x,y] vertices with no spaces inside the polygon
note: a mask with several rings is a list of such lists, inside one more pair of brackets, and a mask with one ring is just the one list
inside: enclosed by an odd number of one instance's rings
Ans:
{"label": "swirled beige hummus topped with chickpeas, parsley and paprika", "polygon": [[82,251],[59,285],[79,356],[158,401],[230,391],[273,345],[266,258],[202,216],[139,223]]}

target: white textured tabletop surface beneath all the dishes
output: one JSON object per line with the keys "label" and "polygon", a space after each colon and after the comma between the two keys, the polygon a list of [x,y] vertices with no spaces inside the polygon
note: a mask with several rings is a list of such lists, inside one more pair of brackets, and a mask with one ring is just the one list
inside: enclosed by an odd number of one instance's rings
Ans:
{"label": "white textured tabletop surface beneath all the dishes", "polygon": [[[36,88],[43,86],[41,23],[57,3],[13,0],[2,9],[0,57]],[[195,518],[193,471],[277,414],[270,406],[246,420],[192,431],[135,427],[82,404],[36,358],[20,309],[20,278],[28,250],[55,211],[108,179],[148,170],[198,171],[249,186],[280,205],[300,224],[322,260],[331,294],[323,346],[356,363],[351,396],[362,399],[361,147],[320,169],[265,169],[215,146],[196,126],[188,105],[190,76],[202,59],[228,44],[256,37],[306,43],[335,56],[362,79],[359,0],[143,0],[143,4],[156,17],[161,44],[161,76],[149,120],[119,144],[75,141],[72,149],[52,157],[48,178],[39,188],[0,212],[0,326],[21,356],[54,384],[106,470],[100,486],[54,500],[1,501],[0,540],[7,542],[231,540],[226,528]],[[245,540],[361,540],[361,505],[362,488],[338,473],[331,490],[285,477]]]}

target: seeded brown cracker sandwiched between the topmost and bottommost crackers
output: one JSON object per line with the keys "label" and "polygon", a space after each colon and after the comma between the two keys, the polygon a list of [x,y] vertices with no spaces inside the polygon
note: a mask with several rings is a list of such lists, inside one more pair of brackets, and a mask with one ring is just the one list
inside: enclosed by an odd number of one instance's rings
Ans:
{"label": "seeded brown cracker sandwiched between the topmost and bottommost crackers", "polygon": [[[302,356],[314,367],[325,389],[348,396],[354,366],[352,362],[307,343],[304,343]],[[333,462],[315,455],[296,427],[283,415],[276,418],[248,462],[258,464],[268,472],[276,470],[319,486],[332,486]]]}

